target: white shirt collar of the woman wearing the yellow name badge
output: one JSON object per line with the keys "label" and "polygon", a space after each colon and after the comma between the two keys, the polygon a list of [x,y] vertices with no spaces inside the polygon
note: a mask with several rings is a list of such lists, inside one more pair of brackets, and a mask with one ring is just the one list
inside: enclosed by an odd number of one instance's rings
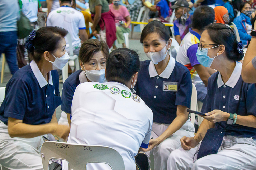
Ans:
{"label": "white shirt collar of the woman wearing the yellow name badge", "polygon": [[[162,78],[168,79],[174,69],[175,63],[176,63],[176,60],[170,55],[170,60],[165,70],[163,70],[163,72],[159,76]],[[149,71],[150,77],[158,76],[155,65],[152,61],[150,61],[150,65],[148,66],[148,71]]]}

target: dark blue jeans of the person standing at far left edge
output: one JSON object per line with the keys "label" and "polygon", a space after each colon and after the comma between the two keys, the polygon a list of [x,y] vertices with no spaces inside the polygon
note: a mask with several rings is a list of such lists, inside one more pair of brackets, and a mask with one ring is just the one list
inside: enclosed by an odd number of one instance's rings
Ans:
{"label": "dark blue jeans of the person standing at far left edge", "polygon": [[0,32],[0,54],[5,54],[12,75],[19,69],[16,57],[17,38],[17,31]]}

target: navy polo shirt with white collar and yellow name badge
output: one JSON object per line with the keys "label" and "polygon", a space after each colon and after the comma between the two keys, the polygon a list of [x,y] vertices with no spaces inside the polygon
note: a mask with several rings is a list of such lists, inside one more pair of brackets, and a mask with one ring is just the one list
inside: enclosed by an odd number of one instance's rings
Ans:
{"label": "navy polo shirt with white collar and yellow name badge", "polygon": [[[177,83],[177,92],[164,90],[163,82]],[[156,123],[172,123],[177,116],[177,105],[190,108],[192,82],[189,70],[172,57],[160,75],[152,61],[141,61],[134,89],[151,108]]]}

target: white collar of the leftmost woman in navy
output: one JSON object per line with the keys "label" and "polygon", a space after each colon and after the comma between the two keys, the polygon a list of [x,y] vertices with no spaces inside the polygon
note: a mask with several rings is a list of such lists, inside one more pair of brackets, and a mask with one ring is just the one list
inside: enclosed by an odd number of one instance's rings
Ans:
{"label": "white collar of the leftmost woman in navy", "polygon": [[[39,86],[42,88],[44,86],[46,86],[48,84],[48,82],[45,80],[43,74],[41,73],[41,71],[39,70],[37,63],[35,63],[35,61],[33,60],[30,63],[30,67],[35,75],[35,78],[37,78],[37,81],[39,83]],[[52,80],[52,74],[51,71],[49,72],[49,84],[53,85],[53,80]]]}

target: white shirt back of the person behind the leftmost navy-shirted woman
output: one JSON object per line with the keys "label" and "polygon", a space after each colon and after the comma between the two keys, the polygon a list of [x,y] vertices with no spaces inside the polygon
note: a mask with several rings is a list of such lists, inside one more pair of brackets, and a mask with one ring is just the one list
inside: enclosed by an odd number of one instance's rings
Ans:
{"label": "white shirt back of the person behind the leftmost navy-shirted woman", "polygon": [[[47,26],[58,26],[65,28],[71,35],[73,49],[81,46],[81,40],[78,36],[79,29],[85,29],[83,14],[71,7],[59,7],[49,13]],[[68,39],[66,40],[66,51],[69,52]]]}

